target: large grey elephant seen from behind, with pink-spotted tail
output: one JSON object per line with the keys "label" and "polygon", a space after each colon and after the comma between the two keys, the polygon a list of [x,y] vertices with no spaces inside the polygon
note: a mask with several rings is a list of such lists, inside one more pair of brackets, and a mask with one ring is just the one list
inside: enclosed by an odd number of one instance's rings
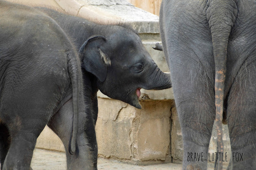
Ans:
{"label": "large grey elephant seen from behind, with pink-spotted tail", "polygon": [[[243,160],[231,157],[229,168],[256,166],[255,9],[255,0],[162,1],[161,38],[182,128],[183,169],[207,168],[214,119],[218,152],[225,152],[222,118],[232,152]],[[188,161],[188,153],[203,153],[203,162]]]}

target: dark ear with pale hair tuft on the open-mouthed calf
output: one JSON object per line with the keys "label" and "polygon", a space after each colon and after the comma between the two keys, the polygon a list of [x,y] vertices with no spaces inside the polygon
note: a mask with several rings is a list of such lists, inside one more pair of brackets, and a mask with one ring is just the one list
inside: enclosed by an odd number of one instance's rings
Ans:
{"label": "dark ear with pale hair tuft on the open-mouthed calf", "polygon": [[82,67],[95,75],[101,82],[106,79],[110,58],[100,49],[106,43],[103,36],[94,36],[86,40],[79,49],[82,55]]}

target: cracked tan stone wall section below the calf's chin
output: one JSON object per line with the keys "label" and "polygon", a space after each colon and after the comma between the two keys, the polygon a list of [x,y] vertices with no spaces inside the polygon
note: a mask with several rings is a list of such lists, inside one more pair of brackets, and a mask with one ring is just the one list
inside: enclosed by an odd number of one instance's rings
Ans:
{"label": "cracked tan stone wall section below the calf's chin", "polygon": [[99,156],[136,164],[171,162],[172,100],[141,101],[141,110],[113,99],[99,98],[98,103]]}

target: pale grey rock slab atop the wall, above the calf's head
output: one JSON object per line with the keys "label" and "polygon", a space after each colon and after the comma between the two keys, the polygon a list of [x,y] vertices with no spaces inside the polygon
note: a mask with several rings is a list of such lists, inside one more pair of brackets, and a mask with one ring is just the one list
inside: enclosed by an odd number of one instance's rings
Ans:
{"label": "pale grey rock slab atop the wall, above the calf's head", "polygon": [[138,32],[138,34],[159,34],[159,17],[137,8],[126,0],[77,0],[82,8],[90,10],[115,19],[117,22],[126,22]]}

